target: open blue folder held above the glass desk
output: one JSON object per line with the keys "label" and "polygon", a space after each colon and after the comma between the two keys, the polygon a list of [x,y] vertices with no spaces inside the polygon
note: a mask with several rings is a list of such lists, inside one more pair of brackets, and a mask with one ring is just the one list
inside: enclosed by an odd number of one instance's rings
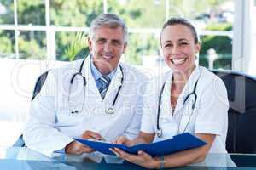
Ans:
{"label": "open blue folder held above the glass desk", "polygon": [[173,136],[172,139],[166,139],[151,144],[137,144],[134,146],[125,146],[124,144],[110,144],[102,141],[92,141],[88,139],[75,139],[90,148],[107,155],[114,155],[110,148],[119,148],[131,154],[137,154],[138,150],[144,150],[151,156],[163,156],[172,154],[181,150],[189,150],[207,144],[190,133],[182,133]]}

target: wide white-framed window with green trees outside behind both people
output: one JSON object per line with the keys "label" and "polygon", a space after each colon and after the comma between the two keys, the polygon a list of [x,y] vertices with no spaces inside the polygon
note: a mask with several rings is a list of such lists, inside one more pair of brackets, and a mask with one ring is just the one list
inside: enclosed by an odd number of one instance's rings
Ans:
{"label": "wide white-framed window with green trees outside behind both people", "polygon": [[160,28],[170,17],[183,16],[201,33],[200,65],[231,69],[233,0],[1,0],[0,57],[80,59],[89,54],[84,41],[88,26],[103,12],[119,14],[129,27],[127,63],[152,66],[163,62]]}

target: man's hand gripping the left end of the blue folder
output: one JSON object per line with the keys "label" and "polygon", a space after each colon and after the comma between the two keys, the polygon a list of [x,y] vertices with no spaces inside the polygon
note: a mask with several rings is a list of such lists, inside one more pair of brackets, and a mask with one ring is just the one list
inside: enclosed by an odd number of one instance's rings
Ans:
{"label": "man's hand gripping the left end of the blue folder", "polygon": [[[93,139],[93,140],[103,140],[102,136],[99,133],[95,133],[92,131],[85,131],[82,135],[81,135],[82,139]],[[74,154],[74,155],[81,155],[82,153],[90,153],[93,152],[94,150],[92,150],[89,146],[85,145],[85,144],[81,144],[77,141],[73,141],[69,144],[67,144],[67,146],[65,147],[65,152],[67,154]]]}

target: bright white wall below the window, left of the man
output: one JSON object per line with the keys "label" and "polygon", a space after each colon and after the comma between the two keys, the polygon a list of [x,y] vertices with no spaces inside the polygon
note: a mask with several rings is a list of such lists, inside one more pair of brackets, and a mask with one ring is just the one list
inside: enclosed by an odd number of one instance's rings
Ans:
{"label": "bright white wall below the window, left of the man", "polygon": [[57,61],[0,59],[0,146],[13,144],[20,135],[38,76],[49,68],[65,64]]}

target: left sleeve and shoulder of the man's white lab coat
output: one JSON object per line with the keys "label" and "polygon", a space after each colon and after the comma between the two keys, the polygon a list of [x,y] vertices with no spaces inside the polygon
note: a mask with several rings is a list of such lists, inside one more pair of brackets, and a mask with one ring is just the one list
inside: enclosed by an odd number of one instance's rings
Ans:
{"label": "left sleeve and shoulder of the man's white lab coat", "polygon": [[62,88],[61,77],[79,71],[81,62],[78,60],[49,71],[41,92],[33,99],[23,133],[26,146],[32,150],[53,156],[55,150],[61,150],[73,141],[73,138],[55,128],[55,94],[57,89]]}

